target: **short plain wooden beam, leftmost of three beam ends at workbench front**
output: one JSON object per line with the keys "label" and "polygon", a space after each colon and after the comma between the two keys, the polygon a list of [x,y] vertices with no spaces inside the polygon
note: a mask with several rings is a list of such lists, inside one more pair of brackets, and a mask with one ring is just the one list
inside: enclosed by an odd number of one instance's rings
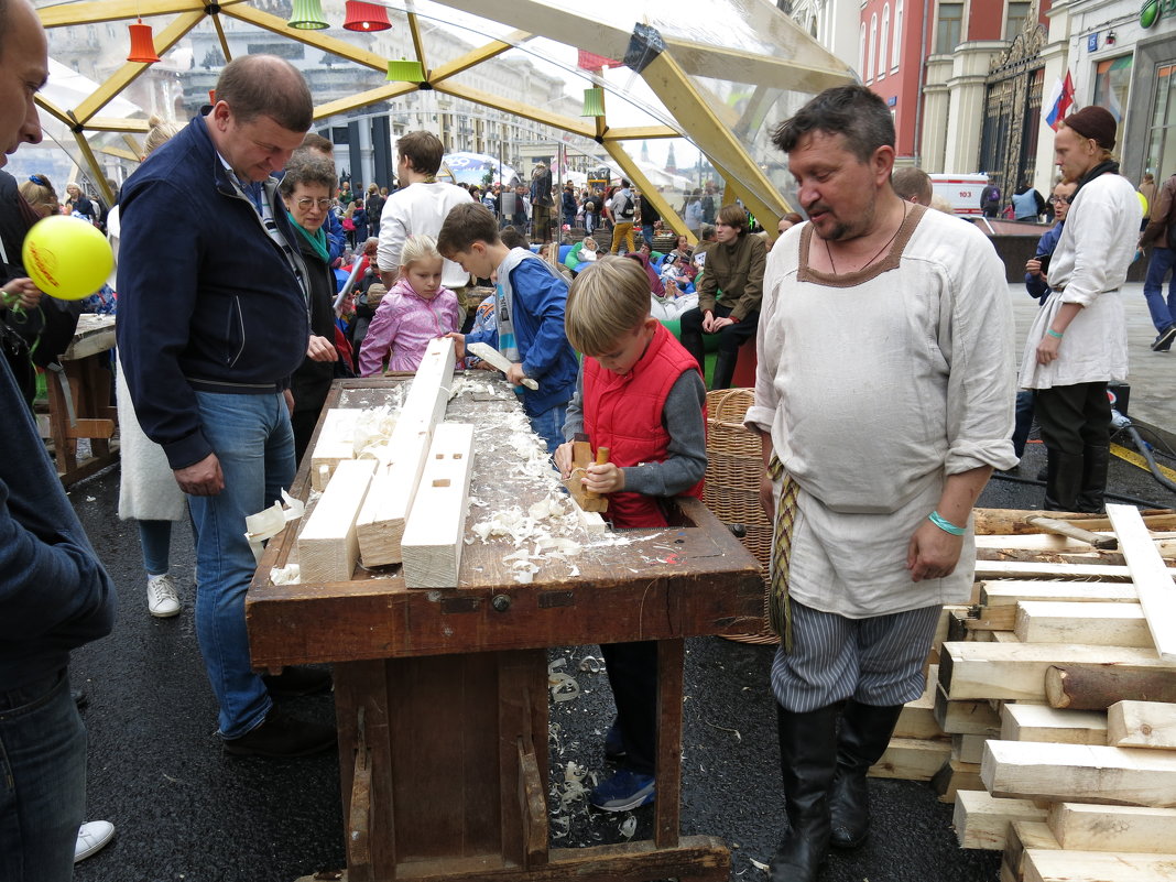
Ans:
{"label": "short plain wooden beam, leftmost of three beam ends at workbench front", "polygon": [[300,581],[343,582],[355,572],[355,516],[372,481],[372,460],[340,462],[298,539]]}

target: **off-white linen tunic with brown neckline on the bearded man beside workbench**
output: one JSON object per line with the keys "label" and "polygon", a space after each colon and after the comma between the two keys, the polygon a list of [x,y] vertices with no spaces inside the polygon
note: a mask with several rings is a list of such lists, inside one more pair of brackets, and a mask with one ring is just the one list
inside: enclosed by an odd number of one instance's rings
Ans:
{"label": "off-white linen tunic with brown neckline on the bearded man beside workbench", "polygon": [[768,255],[746,419],[800,488],[789,594],[850,619],[964,601],[970,526],[947,579],[913,582],[907,547],[947,475],[1017,461],[1004,267],[970,223],[921,207],[858,273],[811,269],[811,239],[799,225]]}

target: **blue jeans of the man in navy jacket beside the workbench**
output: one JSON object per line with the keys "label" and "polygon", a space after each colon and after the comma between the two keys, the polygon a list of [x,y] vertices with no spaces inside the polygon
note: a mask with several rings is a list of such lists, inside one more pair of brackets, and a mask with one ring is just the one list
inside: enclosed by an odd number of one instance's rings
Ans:
{"label": "blue jeans of the man in navy jacket beside the workbench", "polygon": [[258,564],[245,519],[281,499],[294,480],[294,433],[279,394],[198,392],[196,405],[225,476],[218,495],[188,496],[196,527],[196,637],[220,704],[220,736],[235,739],[260,726],[272,706],[249,664],[245,593]]}

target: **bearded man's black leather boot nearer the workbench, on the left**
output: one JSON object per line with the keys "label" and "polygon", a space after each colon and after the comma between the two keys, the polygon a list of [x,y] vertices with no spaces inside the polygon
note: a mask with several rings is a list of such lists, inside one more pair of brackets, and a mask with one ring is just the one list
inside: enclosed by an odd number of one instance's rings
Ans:
{"label": "bearded man's black leather boot nearer the workbench, on the left", "polygon": [[776,707],[780,769],[788,833],[768,868],[769,882],[815,882],[829,851],[829,786],[837,764],[837,714],[830,704],[807,714]]}

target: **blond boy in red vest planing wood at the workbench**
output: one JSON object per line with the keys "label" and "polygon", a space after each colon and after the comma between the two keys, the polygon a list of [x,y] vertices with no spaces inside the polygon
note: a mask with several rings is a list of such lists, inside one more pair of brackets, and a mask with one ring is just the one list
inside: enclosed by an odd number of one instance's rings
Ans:
{"label": "blond boy in red vest planing wood at the workbench", "polygon": [[[588,435],[610,461],[593,465],[584,487],[607,493],[616,528],[666,527],[674,496],[702,495],[707,470],[706,386],[697,362],[649,315],[649,280],[634,260],[602,258],[572,283],[564,325],[583,353],[555,465],[572,472],[570,440]],[[627,811],[654,800],[657,644],[601,647],[616,701],[604,756],[620,768],[589,801]]]}

